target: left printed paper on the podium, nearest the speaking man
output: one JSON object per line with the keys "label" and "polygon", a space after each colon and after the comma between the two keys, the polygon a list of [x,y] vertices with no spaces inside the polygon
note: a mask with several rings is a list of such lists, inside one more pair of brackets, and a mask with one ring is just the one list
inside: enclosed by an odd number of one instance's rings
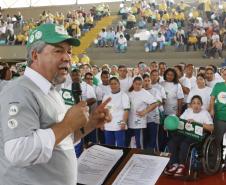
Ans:
{"label": "left printed paper on the podium, nearest the speaking man", "polygon": [[101,185],[122,155],[122,150],[99,145],[88,148],[78,160],[78,183]]}

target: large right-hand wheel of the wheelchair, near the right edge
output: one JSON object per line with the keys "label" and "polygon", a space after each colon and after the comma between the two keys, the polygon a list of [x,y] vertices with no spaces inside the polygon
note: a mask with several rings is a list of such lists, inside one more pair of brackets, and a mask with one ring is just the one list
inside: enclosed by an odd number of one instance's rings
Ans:
{"label": "large right-hand wheel of the wheelchair, near the right edge", "polygon": [[202,149],[202,167],[207,175],[213,175],[221,168],[222,152],[213,135],[205,139]]}

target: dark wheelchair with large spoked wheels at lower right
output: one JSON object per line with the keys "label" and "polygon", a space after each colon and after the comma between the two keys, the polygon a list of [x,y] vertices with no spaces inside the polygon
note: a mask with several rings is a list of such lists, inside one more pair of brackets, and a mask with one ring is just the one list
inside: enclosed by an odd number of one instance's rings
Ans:
{"label": "dark wheelchair with large spoked wheels at lower right", "polygon": [[196,180],[202,172],[214,175],[222,166],[222,147],[219,147],[214,136],[206,134],[201,142],[190,145],[187,154],[188,172],[185,180]]}

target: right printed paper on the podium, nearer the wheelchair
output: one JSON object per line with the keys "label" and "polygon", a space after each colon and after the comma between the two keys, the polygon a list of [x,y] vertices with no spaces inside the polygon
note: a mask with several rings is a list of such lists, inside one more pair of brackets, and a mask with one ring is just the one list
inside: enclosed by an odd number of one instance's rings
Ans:
{"label": "right printed paper on the podium, nearer the wheelchair", "polygon": [[134,154],[113,185],[154,185],[168,161],[166,157]]}

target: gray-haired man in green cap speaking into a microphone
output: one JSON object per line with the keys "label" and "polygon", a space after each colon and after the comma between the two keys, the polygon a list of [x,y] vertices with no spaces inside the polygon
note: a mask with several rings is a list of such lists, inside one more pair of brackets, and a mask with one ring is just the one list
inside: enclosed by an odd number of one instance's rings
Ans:
{"label": "gray-haired man in green cap speaking into a microphone", "polygon": [[55,24],[30,32],[24,75],[0,94],[0,184],[76,184],[73,142],[111,119],[110,100],[91,115],[83,101],[67,111],[55,89],[68,75],[71,45],[79,44]]}

